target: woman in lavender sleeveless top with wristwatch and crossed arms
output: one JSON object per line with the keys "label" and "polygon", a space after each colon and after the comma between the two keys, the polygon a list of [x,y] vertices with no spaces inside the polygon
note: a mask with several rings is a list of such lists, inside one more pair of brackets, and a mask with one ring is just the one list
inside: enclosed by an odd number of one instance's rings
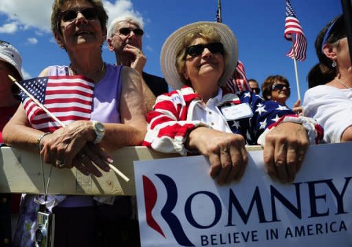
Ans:
{"label": "woman in lavender sleeveless top with wristwatch and crossed arms", "polygon": [[[94,86],[90,113],[94,121],[74,121],[74,116],[68,115],[66,127],[44,133],[32,127],[21,105],[4,129],[6,143],[33,150],[41,146],[45,162],[59,169],[74,166],[85,175],[101,176],[97,166],[109,171],[104,161],[112,162],[101,148],[111,150],[142,142],[146,133],[142,80],[129,67],[102,61],[106,24],[107,12],[100,0],[54,1],[52,32],[71,63],[47,67],[40,75],[89,78]],[[130,198],[102,199],[98,198],[98,202],[87,196],[56,196],[45,201],[36,198],[36,202],[46,204],[55,214],[54,246],[137,245],[137,222],[130,220]],[[26,196],[21,203],[14,246],[33,246],[39,206],[34,203],[34,196]]]}

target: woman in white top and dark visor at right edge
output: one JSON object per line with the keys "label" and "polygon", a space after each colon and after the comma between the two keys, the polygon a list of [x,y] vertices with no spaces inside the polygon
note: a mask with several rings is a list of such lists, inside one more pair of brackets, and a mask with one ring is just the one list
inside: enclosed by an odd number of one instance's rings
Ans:
{"label": "woman in white top and dark visor at right edge", "polygon": [[304,114],[324,127],[325,142],[351,141],[352,67],[343,16],[319,32],[315,46],[320,64],[316,76],[309,78],[309,85],[316,87],[305,93]]}

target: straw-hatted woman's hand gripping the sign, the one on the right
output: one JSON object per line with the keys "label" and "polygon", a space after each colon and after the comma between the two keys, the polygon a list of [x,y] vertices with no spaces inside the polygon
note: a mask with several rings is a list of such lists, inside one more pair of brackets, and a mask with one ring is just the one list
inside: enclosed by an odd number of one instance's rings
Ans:
{"label": "straw-hatted woman's hand gripping the sign, the one on the right", "polygon": [[283,122],[267,133],[264,162],[272,179],[293,182],[300,170],[309,140],[305,128],[294,122]]}

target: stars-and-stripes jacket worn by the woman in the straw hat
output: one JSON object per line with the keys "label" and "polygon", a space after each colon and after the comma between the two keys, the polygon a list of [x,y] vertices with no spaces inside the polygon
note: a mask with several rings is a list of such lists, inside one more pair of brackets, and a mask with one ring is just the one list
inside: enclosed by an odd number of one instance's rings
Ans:
{"label": "stars-and-stripes jacket worn by the woman in the straw hat", "polygon": [[[200,104],[199,96],[191,87],[157,97],[153,111],[147,115],[148,130],[143,145],[163,153],[187,154],[184,147],[188,133],[197,127],[209,127],[210,123],[192,120],[195,106]],[[221,114],[223,107],[248,104],[252,110],[252,117],[225,120],[232,133],[245,138],[247,144],[257,144],[259,136],[265,129],[271,128],[283,116],[298,118],[294,111],[274,101],[264,101],[259,95],[247,91],[239,94],[223,94],[217,105]]]}

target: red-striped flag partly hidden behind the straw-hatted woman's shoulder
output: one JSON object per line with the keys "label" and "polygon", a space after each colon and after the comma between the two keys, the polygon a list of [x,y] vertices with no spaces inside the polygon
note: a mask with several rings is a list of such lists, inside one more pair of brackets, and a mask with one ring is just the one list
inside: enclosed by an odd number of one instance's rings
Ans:
{"label": "red-striped flag partly hidden behind the straw-hatted woman's shoulder", "polygon": [[225,92],[236,94],[238,92],[252,91],[247,76],[245,76],[245,67],[241,61],[237,62],[234,74],[223,88]]}

